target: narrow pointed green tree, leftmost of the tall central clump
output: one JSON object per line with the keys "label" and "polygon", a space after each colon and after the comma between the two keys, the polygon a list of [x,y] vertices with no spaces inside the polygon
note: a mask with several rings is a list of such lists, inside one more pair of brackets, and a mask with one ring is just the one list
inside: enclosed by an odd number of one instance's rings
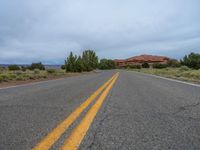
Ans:
{"label": "narrow pointed green tree, leftmost of the tall central clump", "polygon": [[65,70],[66,72],[76,72],[76,59],[77,56],[70,52],[69,56],[65,60]]}

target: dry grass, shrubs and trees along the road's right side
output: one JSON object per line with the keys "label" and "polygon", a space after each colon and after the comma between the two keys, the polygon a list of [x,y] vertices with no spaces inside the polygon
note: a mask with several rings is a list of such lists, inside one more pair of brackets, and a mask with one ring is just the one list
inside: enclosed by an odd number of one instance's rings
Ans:
{"label": "dry grass, shrubs and trees along the road's right side", "polygon": [[200,54],[190,53],[180,61],[170,60],[167,64],[155,63],[152,66],[128,66],[128,70],[163,76],[182,81],[200,83]]}

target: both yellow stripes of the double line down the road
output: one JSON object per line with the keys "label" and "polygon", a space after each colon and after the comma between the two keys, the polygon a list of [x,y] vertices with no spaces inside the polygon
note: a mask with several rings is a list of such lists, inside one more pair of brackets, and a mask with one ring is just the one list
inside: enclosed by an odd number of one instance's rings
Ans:
{"label": "both yellow stripes of the double line down the road", "polygon": [[60,138],[60,136],[69,128],[69,126],[80,116],[80,114],[99,96],[96,103],[88,110],[81,122],[74,128],[71,135],[66,139],[61,150],[76,150],[86,135],[92,121],[97,112],[101,108],[106,96],[116,82],[119,73],[116,73],[97,91],[95,91],[87,100],[85,100],[78,108],[76,108],[63,122],[54,128],[44,139],[42,139],[33,150],[48,150]]}

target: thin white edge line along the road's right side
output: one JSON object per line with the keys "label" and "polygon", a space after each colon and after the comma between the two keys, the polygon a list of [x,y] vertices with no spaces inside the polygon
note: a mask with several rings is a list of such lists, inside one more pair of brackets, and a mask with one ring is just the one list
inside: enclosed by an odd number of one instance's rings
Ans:
{"label": "thin white edge line along the road's right side", "polygon": [[133,71],[133,72],[136,72],[138,74],[147,75],[147,76],[152,76],[152,77],[155,77],[155,78],[160,78],[160,79],[168,80],[168,81],[173,81],[173,82],[177,82],[177,83],[187,84],[187,85],[190,85],[190,86],[200,87],[199,84],[195,84],[195,83],[189,83],[189,82],[185,82],[185,81],[180,81],[180,80],[176,80],[176,79],[161,77],[161,76],[158,76],[158,75],[147,74],[147,73],[143,73],[143,72],[137,72],[137,71]]}

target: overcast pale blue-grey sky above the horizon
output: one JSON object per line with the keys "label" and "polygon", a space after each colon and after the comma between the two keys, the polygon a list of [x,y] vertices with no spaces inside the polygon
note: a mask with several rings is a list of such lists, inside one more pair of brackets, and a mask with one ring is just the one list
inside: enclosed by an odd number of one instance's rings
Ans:
{"label": "overcast pale blue-grey sky above the horizon", "polygon": [[0,63],[200,53],[200,0],[0,0]]}

